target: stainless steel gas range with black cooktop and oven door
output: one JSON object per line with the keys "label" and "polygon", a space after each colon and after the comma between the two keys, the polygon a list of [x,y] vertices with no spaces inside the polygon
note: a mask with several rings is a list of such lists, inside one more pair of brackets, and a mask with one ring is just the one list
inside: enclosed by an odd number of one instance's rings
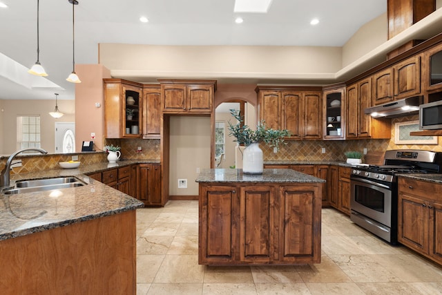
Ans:
{"label": "stainless steel gas range with black cooktop and oven door", "polygon": [[350,219],[397,244],[398,187],[401,173],[440,173],[442,154],[421,150],[386,151],[382,166],[354,166],[350,176]]}

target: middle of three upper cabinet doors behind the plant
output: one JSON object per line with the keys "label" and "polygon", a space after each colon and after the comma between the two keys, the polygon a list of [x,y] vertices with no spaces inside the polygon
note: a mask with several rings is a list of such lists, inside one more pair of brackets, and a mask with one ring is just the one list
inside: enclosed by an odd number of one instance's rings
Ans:
{"label": "middle of three upper cabinet doors behind the plant", "polygon": [[300,139],[302,137],[302,116],[300,115],[302,110],[301,93],[283,92],[281,99],[282,122],[280,128],[290,131],[290,138]]}

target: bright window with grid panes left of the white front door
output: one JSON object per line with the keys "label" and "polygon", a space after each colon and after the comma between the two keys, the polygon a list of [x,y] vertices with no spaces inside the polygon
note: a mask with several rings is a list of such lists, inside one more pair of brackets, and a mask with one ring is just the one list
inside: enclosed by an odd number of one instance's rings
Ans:
{"label": "bright window with grid panes left of the white front door", "polygon": [[40,116],[17,117],[17,148],[40,147]]}

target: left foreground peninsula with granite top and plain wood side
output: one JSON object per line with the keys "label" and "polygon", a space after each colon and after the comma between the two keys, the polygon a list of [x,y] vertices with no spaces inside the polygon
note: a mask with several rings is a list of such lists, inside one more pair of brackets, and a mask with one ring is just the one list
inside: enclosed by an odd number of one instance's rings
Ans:
{"label": "left foreground peninsula with granite top and plain wood side", "polygon": [[142,202],[76,177],[86,185],[0,195],[1,294],[135,294]]}

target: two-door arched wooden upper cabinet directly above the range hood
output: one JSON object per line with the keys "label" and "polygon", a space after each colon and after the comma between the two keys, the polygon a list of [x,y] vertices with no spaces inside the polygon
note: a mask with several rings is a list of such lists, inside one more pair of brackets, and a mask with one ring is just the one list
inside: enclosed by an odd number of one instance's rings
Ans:
{"label": "two-door arched wooden upper cabinet directly above the range hood", "polygon": [[373,105],[421,94],[421,57],[416,55],[373,75]]}

